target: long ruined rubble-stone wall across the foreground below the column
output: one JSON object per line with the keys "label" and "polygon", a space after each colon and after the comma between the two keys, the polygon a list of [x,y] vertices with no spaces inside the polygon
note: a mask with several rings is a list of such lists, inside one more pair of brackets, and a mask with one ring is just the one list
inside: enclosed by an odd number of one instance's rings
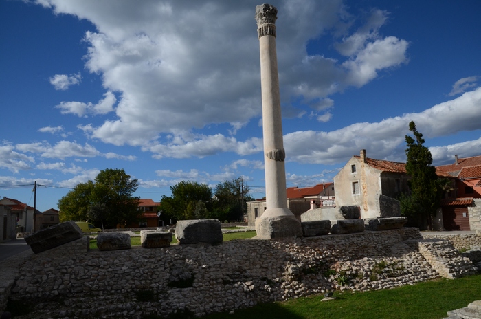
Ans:
{"label": "long ruined rubble-stone wall across the foreground below the column", "polygon": [[[30,255],[10,298],[37,305],[43,300],[34,316],[44,311],[50,318],[141,318],[174,311],[202,316],[334,289],[412,284],[437,278],[446,267],[456,267],[447,272],[473,273],[472,263],[460,256],[436,271],[419,252],[419,241],[416,228],[402,228],[102,252],[88,250],[84,237]],[[150,292],[153,298],[138,300],[136,292]]]}

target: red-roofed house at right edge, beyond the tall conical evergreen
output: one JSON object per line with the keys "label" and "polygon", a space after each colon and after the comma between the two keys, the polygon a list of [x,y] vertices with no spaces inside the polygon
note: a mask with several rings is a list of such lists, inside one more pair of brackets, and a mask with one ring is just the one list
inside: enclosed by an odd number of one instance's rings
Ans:
{"label": "red-roofed house at right edge, beyond the tall conical evergreen", "polygon": [[446,230],[481,230],[481,156],[458,158],[436,166],[436,173],[456,177],[454,199],[443,199],[443,227]]}

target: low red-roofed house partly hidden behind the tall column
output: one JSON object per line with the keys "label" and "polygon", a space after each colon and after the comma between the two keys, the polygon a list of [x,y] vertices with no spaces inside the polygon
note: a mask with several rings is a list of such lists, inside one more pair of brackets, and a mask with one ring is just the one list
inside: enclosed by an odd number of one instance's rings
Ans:
{"label": "low red-roofed house partly hidden behind the tall column", "polygon": [[[324,183],[311,187],[289,187],[286,190],[287,208],[294,216],[301,220],[301,214],[321,206],[334,206],[334,184]],[[247,223],[249,226],[256,224],[256,218],[261,217],[266,210],[265,199],[247,202]]]}

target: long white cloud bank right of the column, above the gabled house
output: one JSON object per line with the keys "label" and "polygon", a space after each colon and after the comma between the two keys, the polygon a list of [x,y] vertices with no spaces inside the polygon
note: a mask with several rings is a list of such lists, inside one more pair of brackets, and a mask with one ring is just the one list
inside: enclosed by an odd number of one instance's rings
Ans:
{"label": "long white cloud bank right of the column, above the gabled house", "polygon": [[[366,149],[368,157],[403,162],[404,137],[410,133],[408,125],[412,120],[426,138],[479,130],[481,88],[437,104],[421,113],[404,114],[381,122],[356,123],[330,132],[288,133],[284,135],[286,160],[304,164],[342,164],[352,155],[357,155],[359,150]],[[472,152],[477,151],[479,155],[480,150],[473,146],[473,142],[465,147],[471,146]],[[454,146],[451,148],[454,149]],[[433,148],[433,156],[436,155],[436,159],[442,160],[441,154],[446,152],[445,149],[447,148]],[[451,153],[449,155],[452,155]]]}

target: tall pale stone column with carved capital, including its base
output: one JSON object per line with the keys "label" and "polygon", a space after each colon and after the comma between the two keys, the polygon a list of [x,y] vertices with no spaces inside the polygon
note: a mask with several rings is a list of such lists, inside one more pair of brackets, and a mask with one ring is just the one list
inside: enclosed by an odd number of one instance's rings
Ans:
{"label": "tall pale stone column with carved capital, including its base", "polygon": [[264,138],[267,209],[256,219],[258,238],[302,236],[300,222],[287,208],[284,142],[280,114],[279,76],[276,53],[277,9],[267,3],[256,7],[260,45],[262,130]]}

